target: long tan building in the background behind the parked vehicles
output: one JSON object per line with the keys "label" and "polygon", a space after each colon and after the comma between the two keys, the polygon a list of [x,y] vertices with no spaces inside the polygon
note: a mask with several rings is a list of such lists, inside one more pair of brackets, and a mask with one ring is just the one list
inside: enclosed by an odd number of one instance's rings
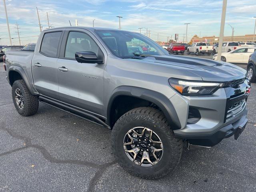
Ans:
{"label": "long tan building in the background behind the parked vehicles", "polygon": [[[226,36],[223,38],[223,42],[253,42],[253,34],[252,35],[244,35],[244,36]],[[219,42],[219,37],[216,36],[207,36],[207,37],[199,37],[192,38],[192,42],[208,42],[211,45]],[[254,42],[256,42],[256,35],[254,37]]]}

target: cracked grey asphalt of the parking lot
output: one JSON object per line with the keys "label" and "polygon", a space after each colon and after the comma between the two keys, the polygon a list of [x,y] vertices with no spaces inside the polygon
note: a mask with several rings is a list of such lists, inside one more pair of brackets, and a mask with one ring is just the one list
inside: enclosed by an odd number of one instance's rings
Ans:
{"label": "cracked grey asphalt of the parking lot", "polygon": [[184,147],[174,172],[143,180],[115,162],[110,130],[42,103],[36,115],[20,116],[2,63],[0,82],[0,191],[256,191],[256,84],[247,103],[249,121],[238,140],[197,150]]}

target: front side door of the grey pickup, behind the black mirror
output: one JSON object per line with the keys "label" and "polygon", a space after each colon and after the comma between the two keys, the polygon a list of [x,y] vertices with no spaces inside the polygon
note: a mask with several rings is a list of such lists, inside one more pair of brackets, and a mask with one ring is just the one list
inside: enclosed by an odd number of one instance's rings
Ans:
{"label": "front side door of the grey pickup, behind the black mirror", "polygon": [[86,110],[91,114],[102,114],[104,64],[79,63],[76,52],[95,52],[104,48],[98,40],[85,29],[68,28],[61,45],[57,62],[58,93],[60,101]]}

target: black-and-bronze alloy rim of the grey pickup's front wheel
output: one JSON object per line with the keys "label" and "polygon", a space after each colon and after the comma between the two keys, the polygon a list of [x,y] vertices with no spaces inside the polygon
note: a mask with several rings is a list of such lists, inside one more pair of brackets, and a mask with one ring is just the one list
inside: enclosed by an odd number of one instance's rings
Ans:
{"label": "black-and-bronze alloy rim of the grey pickup's front wheel", "polygon": [[135,127],[124,136],[124,151],[128,158],[140,166],[153,166],[163,156],[159,136],[149,128]]}

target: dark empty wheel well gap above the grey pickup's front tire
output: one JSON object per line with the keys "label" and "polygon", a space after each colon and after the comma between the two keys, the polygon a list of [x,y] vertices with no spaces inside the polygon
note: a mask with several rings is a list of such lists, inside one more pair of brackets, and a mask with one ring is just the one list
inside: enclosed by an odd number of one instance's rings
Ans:
{"label": "dark empty wheel well gap above the grey pickup's front tire", "polygon": [[123,114],[138,107],[159,108],[156,104],[141,98],[134,96],[118,96],[112,102],[110,110],[110,126],[113,127]]}

